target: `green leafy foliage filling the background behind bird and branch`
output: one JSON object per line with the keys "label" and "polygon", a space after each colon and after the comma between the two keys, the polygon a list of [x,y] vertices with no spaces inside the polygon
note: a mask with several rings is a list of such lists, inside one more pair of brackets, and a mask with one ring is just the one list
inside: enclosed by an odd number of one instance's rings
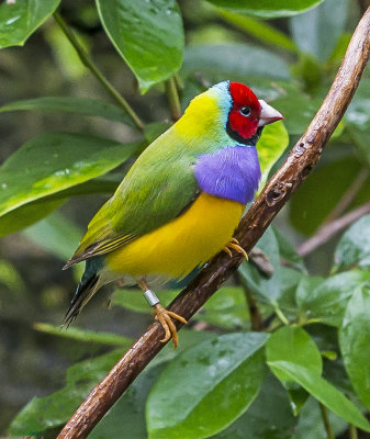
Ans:
{"label": "green leafy foliage filling the background behind bird and branch", "polygon": [[[75,286],[59,268],[94,210],[170,125],[164,81],[175,81],[182,110],[224,79],[273,102],[285,120],[258,144],[265,182],[318,109],[359,3],[0,3],[0,423],[11,437],[55,437],[148,322],[137,291],[119,290],[110,315],[87,309],[81,327],[59,331]],[[65,27],[53,20],[57,7]],[[334,435],[349,425],[370,431],[370,215],[305,260],[295,250],[369,203],[369,138],[366,71],[322,161],[258,244],[273,272],[244,262],[181,331],[179,349],[164,349],[91,438],[321,439],[329,437],[326,409]],[[164,303],[178,291],[164,291]]]}

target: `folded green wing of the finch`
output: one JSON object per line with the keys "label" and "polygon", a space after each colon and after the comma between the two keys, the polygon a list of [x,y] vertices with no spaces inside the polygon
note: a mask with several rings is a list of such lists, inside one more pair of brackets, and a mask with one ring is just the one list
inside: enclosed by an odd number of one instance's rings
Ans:
{"label": "folded green wing of the finch", "polygon": [[[198,196],[195,161],[181,147],[150,145],[100,209],[65,268],[112,251],[179,216]],[[182,153],[182,154],[181,154]]]}

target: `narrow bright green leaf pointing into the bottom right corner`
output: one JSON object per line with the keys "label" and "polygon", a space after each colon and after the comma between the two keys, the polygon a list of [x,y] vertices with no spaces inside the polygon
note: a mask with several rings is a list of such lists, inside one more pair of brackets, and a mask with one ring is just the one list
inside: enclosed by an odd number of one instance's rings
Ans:
{"label": "narrow bright green leaf pointing into the bottom right corner", "polygon": [[336,415],[365,431],[370,431],[369,421],[356,405],[317,372],[289,361],[268,362],[268,365],[274,374],[281,372],[287,374]]}

